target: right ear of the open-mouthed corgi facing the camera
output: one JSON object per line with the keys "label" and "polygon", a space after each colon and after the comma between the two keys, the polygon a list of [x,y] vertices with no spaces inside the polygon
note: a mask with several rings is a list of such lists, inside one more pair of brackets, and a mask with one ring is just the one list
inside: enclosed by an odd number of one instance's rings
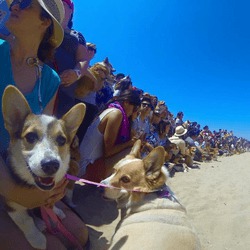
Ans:
{"label": "right ear of the open-mouthed corgi facing the camera", "polygon": [[85,112],[85,104],[78,103],[61,118],[69,134],[70,142],[72,142],[73,138],[75,137],[76,132],[85,116]]}

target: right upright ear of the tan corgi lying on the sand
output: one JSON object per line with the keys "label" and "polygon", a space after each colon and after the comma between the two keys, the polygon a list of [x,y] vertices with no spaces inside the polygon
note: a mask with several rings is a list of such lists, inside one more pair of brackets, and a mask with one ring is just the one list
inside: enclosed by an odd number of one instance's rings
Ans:
{"label": "right upright ear of the tan corgi lying on the sand", "polygon": [[161,167],[165,162],[165,150],[159,146],[154,148],[146,158],[143,159],[143,165],[146,172],[146,178],[154,180],[161,174]]}

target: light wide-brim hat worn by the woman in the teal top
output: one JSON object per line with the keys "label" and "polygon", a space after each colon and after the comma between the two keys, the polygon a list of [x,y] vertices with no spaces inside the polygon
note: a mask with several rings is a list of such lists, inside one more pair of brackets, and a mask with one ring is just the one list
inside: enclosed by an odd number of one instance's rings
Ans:
{"label": "light wide-brim hat worn by the woman in the teal top", "polygon": [[[64,6],[61,0],[37,0],[40,6],[50,15],[53,21],[52,42],[56,47],[59,47],[63,41],[64,31],[61,23],[64,19]],[[7,0],[8,5],[12,0]]]}

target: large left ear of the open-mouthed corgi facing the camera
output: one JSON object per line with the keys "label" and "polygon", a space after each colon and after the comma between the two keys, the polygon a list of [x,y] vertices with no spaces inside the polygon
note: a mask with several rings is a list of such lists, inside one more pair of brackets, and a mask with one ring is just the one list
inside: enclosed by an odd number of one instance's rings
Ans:
{"label": "large left ear of the open-mouthed corgi facing the camera", "polygon": [[8,85],[4,90],[2,112],[5,128],[10,135],[20,131],[26,117],[32,113],[23,94],[13,85]]}

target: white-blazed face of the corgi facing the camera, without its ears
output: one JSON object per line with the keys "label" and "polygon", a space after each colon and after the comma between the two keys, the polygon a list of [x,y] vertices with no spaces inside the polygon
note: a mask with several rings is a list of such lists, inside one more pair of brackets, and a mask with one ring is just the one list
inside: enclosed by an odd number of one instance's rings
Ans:
{"label": "white-blazed face of the corgi facing the camera, without its ears", "polygon": [[46,115],[29,115],[20,135],[11,140],[12,170],[30,185],[52,189],[68,170],[70,143],[62,122]]}

